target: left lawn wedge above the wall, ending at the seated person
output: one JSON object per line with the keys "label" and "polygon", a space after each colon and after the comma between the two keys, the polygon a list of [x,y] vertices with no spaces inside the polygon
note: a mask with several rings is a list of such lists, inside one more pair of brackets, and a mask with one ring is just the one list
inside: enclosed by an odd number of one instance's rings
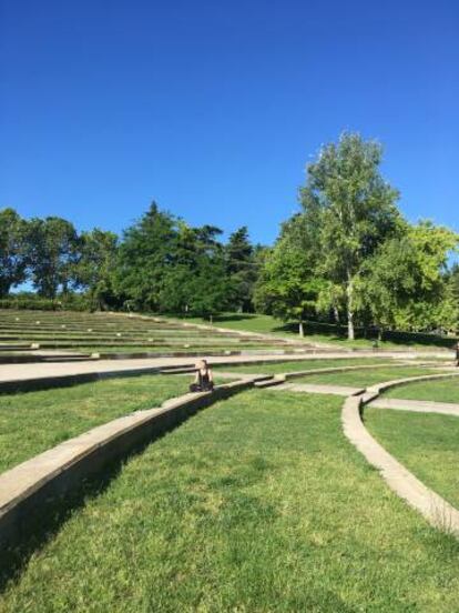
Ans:
{"label": "left lawn wedge above the wall, ending at the seated person", "polygon": [[95,425],[185,393],[190,381],[143,375],[1,394],[0,473]]}

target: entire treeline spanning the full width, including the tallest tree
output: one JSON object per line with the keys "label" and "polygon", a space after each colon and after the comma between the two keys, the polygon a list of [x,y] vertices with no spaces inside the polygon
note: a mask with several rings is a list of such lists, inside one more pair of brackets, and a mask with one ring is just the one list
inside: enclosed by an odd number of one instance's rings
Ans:
{"label": "entire treeline spanning the full width, including the tallest tree", "polygon": [[[385,330],[459,330],[452,230],[401,215],[381,147],[344,133],[307,167],[300,207],[272,248],[247,228],[222,242],[152,203],[122,237],[60,218],[0,211],[0,306],[42,304],[190,315],[222,311]],[[35,294],[11,295],[30,282]],[[44,306],[44,305],[48,306]]]}

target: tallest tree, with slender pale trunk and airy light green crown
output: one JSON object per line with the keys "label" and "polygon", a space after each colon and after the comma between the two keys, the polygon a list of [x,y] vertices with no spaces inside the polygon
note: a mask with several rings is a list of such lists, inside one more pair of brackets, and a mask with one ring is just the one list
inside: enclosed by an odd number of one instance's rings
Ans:
{"label": "tallest tree, with slender pale trunk and airy light green crown", "polygon": [[400,224],[398,192],[379,173],[381,154],[378,143],[344,133],[309,164],[307,184],[300,190],[304,214],[317,228],[317,273],[343,289],[350,340],[360,268]]}

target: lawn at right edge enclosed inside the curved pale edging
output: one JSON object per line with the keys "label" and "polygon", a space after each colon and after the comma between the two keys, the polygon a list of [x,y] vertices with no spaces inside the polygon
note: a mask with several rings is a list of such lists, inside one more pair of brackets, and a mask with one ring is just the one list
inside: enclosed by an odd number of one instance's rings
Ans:
{"label": "lawn at right edge enclosed inside the curved pale edging", "polygon": [[367,408],[365,422],[390,453],[459,509],[458,418]]}

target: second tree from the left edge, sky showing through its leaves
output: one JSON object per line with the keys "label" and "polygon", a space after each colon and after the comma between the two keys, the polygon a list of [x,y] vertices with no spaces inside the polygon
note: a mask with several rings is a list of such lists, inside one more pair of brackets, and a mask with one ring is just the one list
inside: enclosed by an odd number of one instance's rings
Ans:
{"label": "second tree from the left edge, sky showing through its leaves", "polygon": [[27,243],[32,282],[40,295],[55,298],[59,288],[67,293],[76,284],[78,235],[70,221],[57,217],[32,219]]}

